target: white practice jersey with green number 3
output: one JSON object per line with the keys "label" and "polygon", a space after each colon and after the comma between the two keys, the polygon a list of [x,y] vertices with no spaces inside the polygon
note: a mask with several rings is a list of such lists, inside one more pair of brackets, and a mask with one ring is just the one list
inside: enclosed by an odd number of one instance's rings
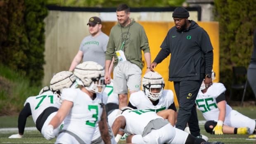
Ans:
{"label": "white practice jersey with green number 3", "polygon": [[62,99],[73,102],[71,111],[64,119],[65,124],[62,130],[75,133],[86,144],[90,144],[97,123],[100,121],[103,110],[100,103],[107,101],[106,93],[96,93],[96,95],[92,100],[88,94],[78,88],[62,91]]}

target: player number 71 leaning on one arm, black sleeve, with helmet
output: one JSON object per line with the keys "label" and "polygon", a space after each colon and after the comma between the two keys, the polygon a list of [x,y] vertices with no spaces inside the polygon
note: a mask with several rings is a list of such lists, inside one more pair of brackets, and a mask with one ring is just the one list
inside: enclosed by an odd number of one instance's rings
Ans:
{"label": "player number 71 leaning on one arm, black sleeve, with helmet", "polygon": [[[54,85],[58,85],[58,87],[50,85],[52,91],[50,91],[49,87],[43,87],[40,90],[39,95],[28,97],[26,102],[24,103],[24,108],[19,113],[18,118],[18,129],[19,134],[11,135],[9,138],[22,138],[24,135],[24,129],[26,125],[26,119],[28,116],[32,115],[33,121],[36,124],[36,128],[45,136],[44,129],[52,120],[52,117],[57,113],[60,103],[60,91],[66,87],[73,87],[73,82],[76,80],[76,77],[72,72],[69,71],[61,71],[52,77],[51,83],[58,78],[59,83],[55,83]],[[55,92],[55,93],[53,93]],[[63,123],[62,123],[63,124]],[[59,125],[54,130],[54,135],[59,133],[60,127]]]}

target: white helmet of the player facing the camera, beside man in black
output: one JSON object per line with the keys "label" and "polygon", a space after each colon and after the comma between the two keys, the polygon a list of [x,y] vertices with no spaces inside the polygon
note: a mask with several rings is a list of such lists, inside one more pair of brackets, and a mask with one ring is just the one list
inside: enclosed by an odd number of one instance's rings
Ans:
{"label": "white helmet of the player facing the camera, beside man in black", "polygon": [[[146,96],[153,101],[161,97],[164,85],[164,78],[157,72],[149,71],[142,78],[142,90]],[[159,88],[159,92],[151,92],[152,88]]]}

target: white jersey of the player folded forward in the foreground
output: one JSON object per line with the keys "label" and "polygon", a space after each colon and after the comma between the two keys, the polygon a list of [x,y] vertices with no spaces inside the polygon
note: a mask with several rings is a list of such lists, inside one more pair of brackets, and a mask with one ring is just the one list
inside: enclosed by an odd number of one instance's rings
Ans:
{"label": "white jersey of the player folded forward in the foreground", "polygon": [[151,120],[162,118],[161,116],[156,115],[154,111],[139,109],[126,110],[121,116],[126,118],[126,127],[124,128],[124,131],[131,135],[141,135],[144,128]]}

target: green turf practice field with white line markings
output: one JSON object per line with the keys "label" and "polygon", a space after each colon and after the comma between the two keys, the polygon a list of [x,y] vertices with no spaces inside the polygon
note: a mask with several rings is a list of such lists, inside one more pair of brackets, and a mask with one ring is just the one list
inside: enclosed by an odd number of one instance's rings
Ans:
{"label": "green turf practice field with white line markings", "polygon": [[[256,119],[256,106],[232,107],[240,113],[250,118]],[[201,134],[209,138],[209,142],[220,141],[225,144],[256,144],[256,139],[249,139],[249,135],[211,135],[204,130],[204,118],[198,111]],[[24,137],[22,139],[9,139],[12,134],[18,133],[18,116],[0,116],[0,143],[1,144],[54,144],[55,139],[46,140],[38,130],[36,130],[32,117],[28,117]],[[125,144],[124,140],[119,144]]]}

